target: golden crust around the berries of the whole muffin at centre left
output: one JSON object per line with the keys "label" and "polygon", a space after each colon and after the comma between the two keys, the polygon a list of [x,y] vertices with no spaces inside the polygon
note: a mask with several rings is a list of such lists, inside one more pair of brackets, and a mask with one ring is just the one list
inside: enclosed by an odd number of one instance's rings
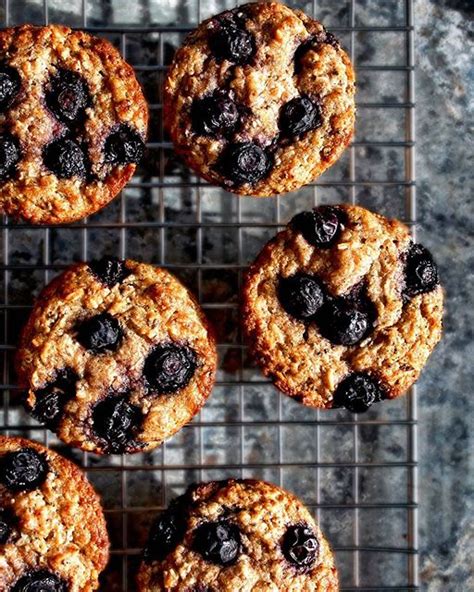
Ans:
{"label": "golden crust around the berries of the whole muffin at centre left", "polygon": [[[71,266],[40,294],[20,338],[16,356],[18,380],[28,389],[32,408],[35,391],[56,370],[71,367],[80,376],[78,392],[66,406],[57,430],[66,443],[103,454],[90,436],[91,408],[107,392],[130,392],[144,422],[136,448],[150,450],[188,423],[210,395],[217,368],[214,331],[190,292],[168,271],[127,260],[132,272],[122,285],[104,287],[85,263]],[[107,310],[119,318],[125,338],[118,352],[94,356],[72,338],[78,319]],[[197,352],[198,368],[177,393],[147,397],[142,381],[146,355],[155,343],[184,341]]]}

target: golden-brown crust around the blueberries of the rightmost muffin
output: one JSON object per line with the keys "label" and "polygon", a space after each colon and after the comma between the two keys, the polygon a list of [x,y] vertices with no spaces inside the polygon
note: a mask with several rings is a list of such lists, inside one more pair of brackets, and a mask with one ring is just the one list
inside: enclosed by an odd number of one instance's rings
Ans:
{"label": "golden-brown crust around the blueberries of the rightmost muffin", "polygon": [[[337,384],[351,371],[377,377],[387,398],[404,394],[441,339],[443,322],[443,290],[439,286],[403,305],[401,254],[410,241],[408,228],[364,208],[338,207],[353,222],[353,229],[346,229],[340,238],[344,249],[337,245],[328,250],[311,247],[288,226],[264,246],[249,267],[241,294],[243,333],[262,372],[283,393],[304,405],[325,409],[333,406]],[[379,260],[382,251],[383,264]],[[350,348],[332,345],[316,327],[311,328],[309,339],[304,338],[304,324],[287,315],[275,295],[279,275],[286,277],[296,271],[316,273],[335,294],[346,293],[358,281],[371,278],[370,297],[382,315],[381,326],[362,344]],[[266,298],[276,301],[277,312],[271,321],[268,313],[262,315]]]}

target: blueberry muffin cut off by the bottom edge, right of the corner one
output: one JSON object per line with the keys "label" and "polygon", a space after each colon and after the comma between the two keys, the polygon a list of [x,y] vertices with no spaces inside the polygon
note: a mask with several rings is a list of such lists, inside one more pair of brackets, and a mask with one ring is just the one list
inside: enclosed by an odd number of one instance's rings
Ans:
{"label": "blueberry muffin cut off by the bottom edge, right of the corner one", "polygon": [[139,592],[336,592],[332,551],[303,504],[253,480],[191,486],[156,520]]}

